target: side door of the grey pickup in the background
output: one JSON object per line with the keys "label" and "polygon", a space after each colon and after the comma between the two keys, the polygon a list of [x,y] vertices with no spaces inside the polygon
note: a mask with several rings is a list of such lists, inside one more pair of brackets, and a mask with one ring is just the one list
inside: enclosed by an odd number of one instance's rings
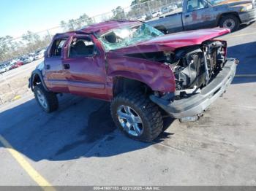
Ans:
{"label": "side door of the grey pickup in the background", "polygon": [[205,0],[184,1],[184,30],[208,28],[215,25],[216,14],[213,7]]}

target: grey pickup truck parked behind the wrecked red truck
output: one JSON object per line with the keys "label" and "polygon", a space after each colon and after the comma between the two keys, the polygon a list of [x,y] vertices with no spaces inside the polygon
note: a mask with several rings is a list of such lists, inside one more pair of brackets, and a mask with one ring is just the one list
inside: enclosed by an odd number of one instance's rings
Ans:
{"label": "grey pickup truck parked behind the wrecked red truck", "polygon": [[241,23],[255,20],[255,0],[184,0],[182,12],[148,21],[148,25],[164,33],[215,26],[236,31]]}

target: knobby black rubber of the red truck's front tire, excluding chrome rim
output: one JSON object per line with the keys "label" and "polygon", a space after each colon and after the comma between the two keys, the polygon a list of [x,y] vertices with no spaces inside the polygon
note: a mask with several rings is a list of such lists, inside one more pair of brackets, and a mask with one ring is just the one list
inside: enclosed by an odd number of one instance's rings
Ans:
{"label": "knobby black rubber of the red truck's front tire, excluding chrome rim", "polygon": [[[143,133],[140,136],[132,136],[127,133],[118,120],[118,106],[126,105],[132,108],[141,118]],[[153,141],[162,133],[163,120],[159,107],[146,95],[140,92],[124,92],[116,96],[110,104],[110,111],[116,126],[129,138],[138,141]]]}

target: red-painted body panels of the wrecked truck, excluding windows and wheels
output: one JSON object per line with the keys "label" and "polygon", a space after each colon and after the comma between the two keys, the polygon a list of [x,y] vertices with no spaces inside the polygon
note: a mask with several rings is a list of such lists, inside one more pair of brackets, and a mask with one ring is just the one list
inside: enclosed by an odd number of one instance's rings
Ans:
{"label": "red-painted body panels of the wrecked truck, excluding windows and wheels", "polygon": [[[139,22],[109,21],[84,28],[86,33],[104,34],[113,28],[134,26]],[[73,93],[110,101],[113,98],[113,83],[116,77],[127,77],[145,83],[152,90],[160,92],[174,92],[175,79],[169,66],[155,61],[141,58],[130,58],[129,53],[174,51],[179,47],[187,47],[227,34],[225,28],[212,28],[197,31],[187,31],[177,34],[158,36],[146,42],[105,52],[96,36],[75,34],[58,34],[54,39],[68,37],[62,50],[61,58],[45,58],[43,69],[45,84],[53,92]],[[72,38],[75,36],[89,36],[97,47],[97,55],[91,58],[67,58],[67,50]],[[53,40],[54,40],[53,39]],[[49,50],[48,50],[49,52]],[[48,54],[46,54],[48,55]],[[64,64],[69,64],[69,69],[64,69]]]}

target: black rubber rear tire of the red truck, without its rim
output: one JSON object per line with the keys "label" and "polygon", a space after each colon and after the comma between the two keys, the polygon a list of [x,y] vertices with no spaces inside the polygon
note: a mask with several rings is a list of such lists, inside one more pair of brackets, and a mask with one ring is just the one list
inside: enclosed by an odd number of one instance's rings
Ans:
{"label": "black rubber rear tire of the red truck, without its rim", "polygon": [[[37,92],[40,92],[42,95],[45,96],[45,101],[46,101],[46,104],[47,104],[47,107],[43,107],[40,102],[39,102],[39,98],[38,98],[38,93]],[[59,107],[59,101],[58,101],[58,98],[56,96],[55,93],[53,92],[48,92],[45,90],[45,88],[39,84],[39,85],[36,85],[34,87],[34,97],[36,98],[37,100],[37,103],[39,104],[39,106],[41,106],[41,108],[47,112],[47,113],[50,113],[50,112],[54,112],[58,109]]]}

